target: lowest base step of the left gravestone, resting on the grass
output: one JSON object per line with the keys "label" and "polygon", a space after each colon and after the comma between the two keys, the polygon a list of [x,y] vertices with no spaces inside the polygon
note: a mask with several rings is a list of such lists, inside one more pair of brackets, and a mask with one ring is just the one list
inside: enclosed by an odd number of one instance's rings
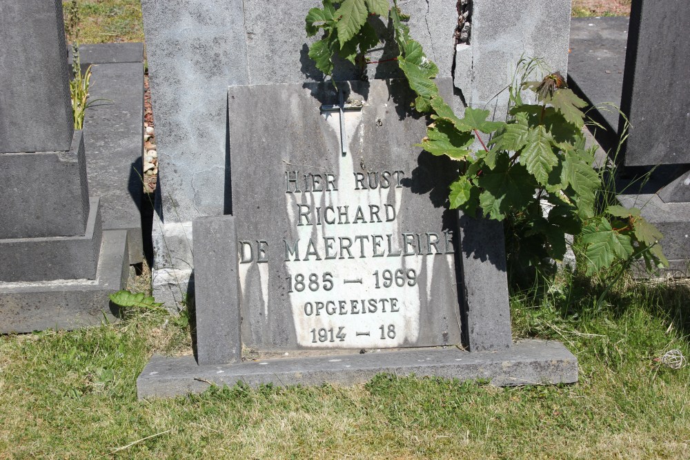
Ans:
{"label": "lowest base step of the left gravestone, resting on the grass", "polygon": [[108,295],[126,286],[127,252],[127,232],[107,230],[95,280],[0,283],[0,333],[76,329],[115,320],[117,307]]}

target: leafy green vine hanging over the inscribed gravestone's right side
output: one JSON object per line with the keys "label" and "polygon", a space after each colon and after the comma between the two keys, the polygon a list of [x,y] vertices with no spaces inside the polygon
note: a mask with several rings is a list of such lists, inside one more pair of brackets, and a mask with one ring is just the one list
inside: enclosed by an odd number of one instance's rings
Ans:
{"label": "leafy green vine hanging over the inscribed gravestone's right side", "polygon": [[[388,0],[322,0],[322,5],[308,11],[306,33],[322,33],[309,57],[328,76],[335,55],[359,66],[368,63],[366,54],[381,41],[373,18],[381,17],[393,29],[400,52],[393,60],[416,94],[415,110],[431,121],[418,145],[457,161],[451,209],[497,221],[519,215],[524,262],[533,266],[562,259],[567,234],[584,243],[587,274],[636,259],[643,259],[648,270],[668,265],[659,245],[662,234],[640,210],[598,199],[602,179],[582,134],[586,103],[566,88],[558,72],[511,88],[506,122],[487,120],[489,110],[471,107],[458,117],[440,96],[434,81],[438,68],[410,37],[409,18],[397,0],[392,8]],[[536,103],[523,103],[521,90],[535,92]]]}

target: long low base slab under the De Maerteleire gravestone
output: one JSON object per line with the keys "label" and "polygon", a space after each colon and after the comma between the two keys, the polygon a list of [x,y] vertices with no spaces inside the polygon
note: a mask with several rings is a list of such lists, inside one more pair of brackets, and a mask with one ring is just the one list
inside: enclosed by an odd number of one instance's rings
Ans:
{"label": "long low base slab under the De Maerteleire gravestone", "polygon": [[466,352],[458,348],[407,348],[364,354],[333,354],[266,359],[199,366],[193,356],[155,355],[137,379],[139,399],[202,392],[209,383],[249,386],[340,386],[364,383],[381,372],[445,379],[489,379],[495,386],[574,383],[578,359],[554,341],[526,340],[498,352]]}

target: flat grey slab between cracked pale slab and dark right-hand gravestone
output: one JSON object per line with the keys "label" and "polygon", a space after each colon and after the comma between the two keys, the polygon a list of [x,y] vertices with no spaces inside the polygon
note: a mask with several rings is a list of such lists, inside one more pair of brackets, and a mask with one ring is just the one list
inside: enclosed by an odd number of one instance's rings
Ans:
{"label": "flat grey slab between cracked pale slab and dark right-hand gravestone", "polygon": [[573,18],[570,24],[569,84],[591,106],[600,107],[589,114],[598,115],[597,121],[605,123],[612,138],[618,132],[616,108],[623,88],[628,21],[627,17],[583,17]]}

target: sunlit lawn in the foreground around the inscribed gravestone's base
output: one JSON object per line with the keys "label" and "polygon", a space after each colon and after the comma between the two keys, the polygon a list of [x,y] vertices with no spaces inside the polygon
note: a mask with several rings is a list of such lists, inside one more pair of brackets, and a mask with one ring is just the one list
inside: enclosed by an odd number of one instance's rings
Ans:
{"label": "sunlit lawn in the foreground around the inscribed gravestone's base", "polygon": [[578,356],[570,386],[380,375],[353,388],[212,387],[137,401],[150,354],[190,351],[188,329],[170,318],[1,337],[0,458],[687,456],[690,368],[656,359],[672,348],[690,356],[690,286],[621,281],[593,311],[601,291],[573,279],[511,299],[516,336],[558,339]]}

